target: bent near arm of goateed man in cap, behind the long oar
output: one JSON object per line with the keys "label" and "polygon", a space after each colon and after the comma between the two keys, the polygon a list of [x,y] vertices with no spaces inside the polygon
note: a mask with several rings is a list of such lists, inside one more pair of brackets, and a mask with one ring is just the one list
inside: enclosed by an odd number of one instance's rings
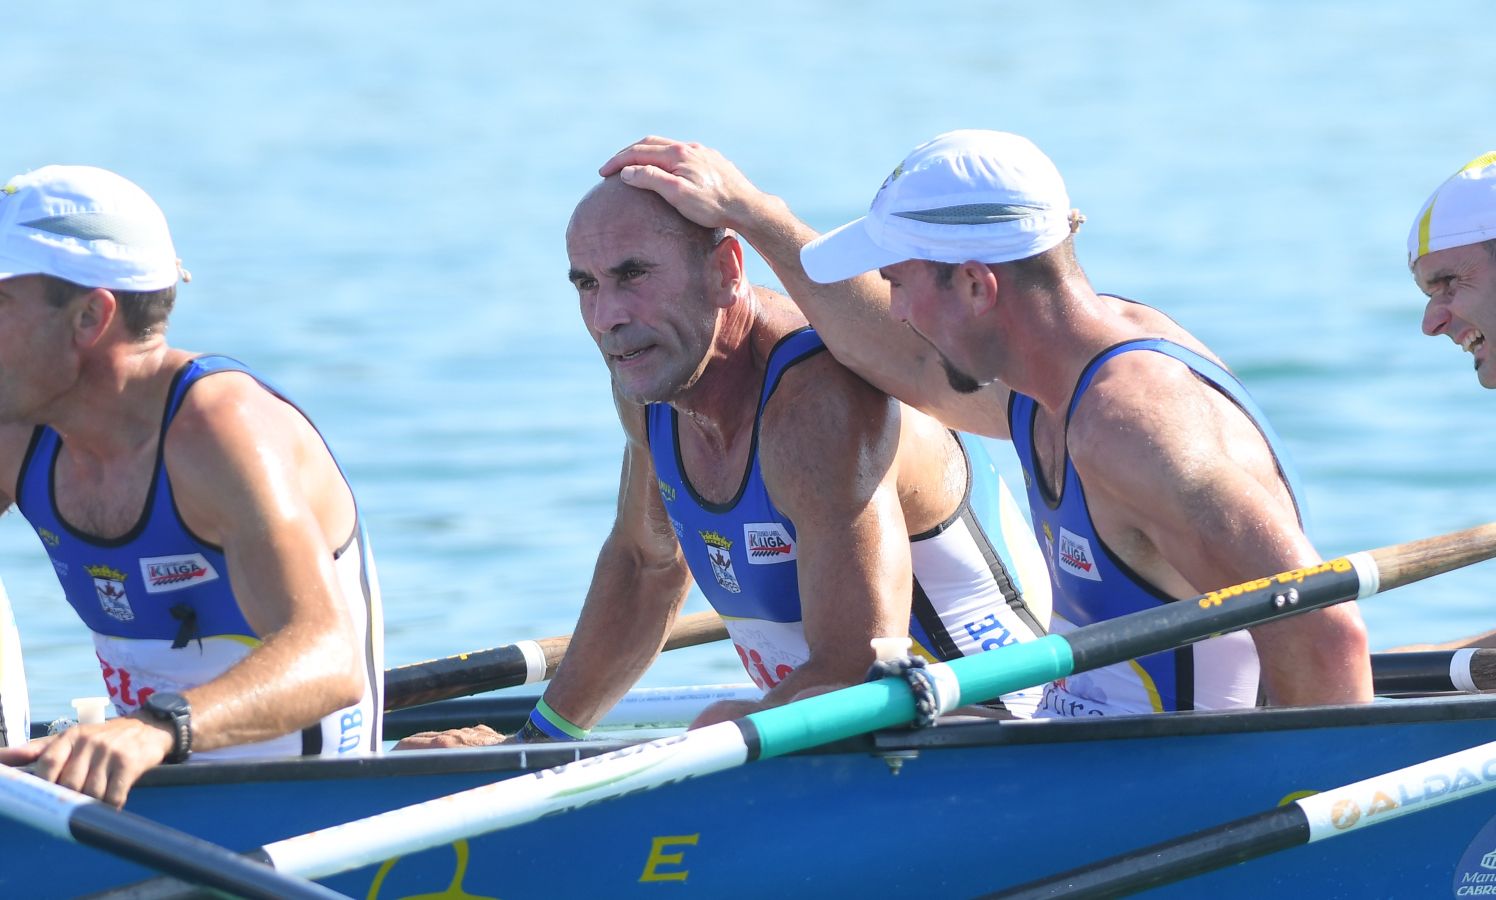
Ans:
{"label": "bent near arm of goateed man in cap, behind the long oar", "polygon": [[[1134,570],[1176,597],[1318,562],[1257,429],[1182,366],[1149,356],[1110,362],[1071,425],[1071,454],[1098,526],[1141,535],[1115,549],[1131,552]],[[1123,383],[1132,387],[1119,390]],[[1171,402],[1149,399],[1156,396]],[[1354,602],[1269,622],[1251,635],[1273,704],[1370,700],[1366,628]]]}

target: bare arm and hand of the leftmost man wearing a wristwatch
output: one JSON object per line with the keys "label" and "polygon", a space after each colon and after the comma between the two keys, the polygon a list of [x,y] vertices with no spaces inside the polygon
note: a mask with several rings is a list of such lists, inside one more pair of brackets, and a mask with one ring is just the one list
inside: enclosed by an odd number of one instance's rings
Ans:
{"label": "bare arm and hand of the leftmost man wearing a wristwatch", "polygon": [[[248,377],[217,375],[188,395],[165,453],[183,519],[223,547],[239,608],[263,638],[184,692],[193,749],[269,740],[358,703],[364,662],[332,568],[353,502],[310,423]],[[165,725],[135,713],[21,750],[43,777],[118,806],[171,748]]]}

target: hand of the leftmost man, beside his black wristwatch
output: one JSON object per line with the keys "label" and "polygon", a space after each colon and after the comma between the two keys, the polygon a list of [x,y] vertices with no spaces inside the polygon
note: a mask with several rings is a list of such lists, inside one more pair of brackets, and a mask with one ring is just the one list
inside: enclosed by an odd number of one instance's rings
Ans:
{"label": "hand of the leftmost man, beside his black wristwatch", "polygon": [[0,762],[33,764],[37,777],[121,807],[141,774],[165,759],[172,745],[165,727],[124,716],[0,749]]}

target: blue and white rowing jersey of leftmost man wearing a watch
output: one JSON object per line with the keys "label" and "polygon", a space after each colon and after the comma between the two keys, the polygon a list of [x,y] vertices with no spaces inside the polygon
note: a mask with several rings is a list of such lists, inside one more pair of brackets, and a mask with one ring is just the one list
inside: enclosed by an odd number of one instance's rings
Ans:
{"label": "blue and white rowing jersey of leftmost man wearing a watch", "polygon": [[[223,549],[197,538],[181,520],[166,471],[166,432],[177,410],[193,384],[215,372],[244,372],[286,399],[236,360],[200,356],[187,362],[168,392],[144,513],[127,534],[99,538],[58,514],[52,472],[63,441],[51,428],[39,426],[33,432],[16,478],[16,507],[42,540],[67,602],[93,632],[105,688],[120,715],[139,709],[156,691],[180,692],[218,677],[262,643],[263,635],[245,620],[229,585]],[[340,755],[380,749],[383,622],[374,558],[361,520],[335,555],[334,570],[364,650],[362,701],[299,734],[200,756]]]}

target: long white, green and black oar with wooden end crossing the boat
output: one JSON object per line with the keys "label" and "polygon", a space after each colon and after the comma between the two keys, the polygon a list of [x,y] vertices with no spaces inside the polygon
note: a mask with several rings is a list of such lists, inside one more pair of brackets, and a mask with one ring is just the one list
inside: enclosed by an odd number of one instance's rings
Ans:
{"label": "long white, green and black oar with wooden end crossing the boat", "polygon": [[[1496,523],[1352,553],[1129,616],[926,668],[939,712],[1158,653],[1284,616],[1366,598],[1496,556]],[[913,721],[902,679],[881,679],[733,722],[624,748],[265,845],[275,869],[323,878],[724,768]]]}

